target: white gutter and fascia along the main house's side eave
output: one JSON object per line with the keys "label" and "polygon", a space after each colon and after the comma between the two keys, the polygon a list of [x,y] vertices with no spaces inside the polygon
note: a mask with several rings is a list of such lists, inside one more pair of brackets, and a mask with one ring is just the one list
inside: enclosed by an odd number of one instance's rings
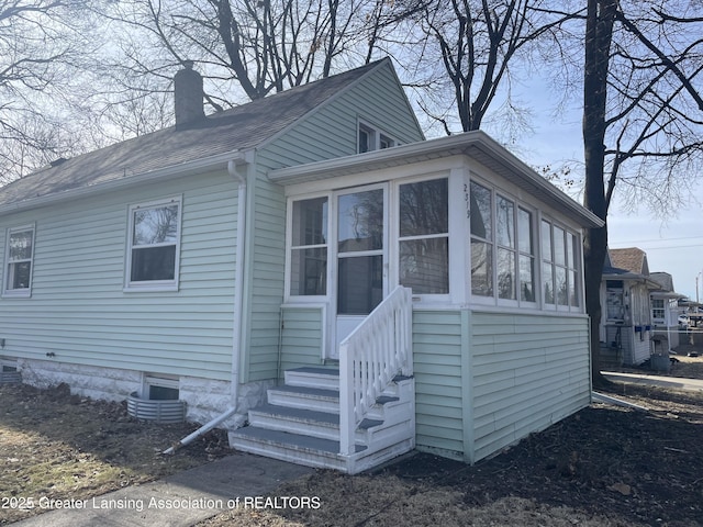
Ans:
{"label": "white gutter and fascia along the main house's side eave", "polygon": [[250,150],[242,152],[234,150],[226,154],[220,154],[217,156],[205,157],[202,159],[196,159],[193,161],[181,162],[179,165],[171,165],[169,167],[157,168],[147,172],[137,173],[134,176],[127,176],[103,183],[89,184],[86,187],[79,187],[76,189],[67,190],[64,192],[55,192],[46,195],[41,195],[30,200],[23,200],[14,203],[7,203],[0,205],[0,216],[11,214],[14,212],[27,211],[31,209],[37,209],[41,206],[51,205],[62,201],[70,201],[88,195],[100,194],[103,192],[111,192],[113,190],[123,189],[125,187],[132,187],[136,184],[158,182],[165,179],[171,179],[177,177],[190,176],[202,172],[204,170],[215,169],[222,167],[227,169],[227,164],[234,161],[235,165],[242,162],[250,162]]}

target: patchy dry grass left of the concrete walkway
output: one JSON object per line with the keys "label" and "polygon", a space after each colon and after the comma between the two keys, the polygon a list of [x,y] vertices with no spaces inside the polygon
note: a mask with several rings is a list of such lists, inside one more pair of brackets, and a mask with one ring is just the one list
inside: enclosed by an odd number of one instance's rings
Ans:
{"label": "patchy dry grass left of the concrete walkway", "polygon": [[[0,385],[0,498],[83,500],[222,455],[223,434],[210,435],[200,448],[160,455],[193,429],[141,423],[122,404],[71,396],[65,385],[48,391]],[[0,524],[40,512],[1,505]]]}

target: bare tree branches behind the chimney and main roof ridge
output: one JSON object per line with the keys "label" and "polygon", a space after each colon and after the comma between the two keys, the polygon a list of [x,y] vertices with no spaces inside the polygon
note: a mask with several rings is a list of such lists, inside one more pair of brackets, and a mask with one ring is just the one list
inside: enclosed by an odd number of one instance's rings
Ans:
{"label": "bare tree branches behind the chimney and main roof ridge", "polygon": [[371,60],[404,11],[387,0],[124,1],[108,11],[130,29],[111,70],[123,94],[147,97],[140,86],[167,91],[172,70],[196,60],[220,110]]}

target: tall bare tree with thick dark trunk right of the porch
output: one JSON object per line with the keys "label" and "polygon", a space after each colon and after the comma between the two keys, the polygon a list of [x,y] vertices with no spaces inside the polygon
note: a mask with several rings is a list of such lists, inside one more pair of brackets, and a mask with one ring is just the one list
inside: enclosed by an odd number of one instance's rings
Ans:
{"label": "tall bare tree with thick dark trunk right of the porch", "polygon": [[[584,205],[606,221],[616,187],[663,214],[703,161],[700,2],[589,0],[583,81]],[[658,208],[658,210],[657,210]],[[593,382],[607,228],[584,243]]]}

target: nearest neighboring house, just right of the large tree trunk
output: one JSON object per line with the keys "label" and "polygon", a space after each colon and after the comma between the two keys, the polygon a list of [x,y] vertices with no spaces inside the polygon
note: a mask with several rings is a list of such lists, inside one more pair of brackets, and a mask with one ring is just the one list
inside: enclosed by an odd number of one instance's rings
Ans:
{"label": "nearest neighboring house, just right of the large tree trunk", "polygon": [[649,278],[647,255],[636,247],[609,249],[601,287],[601,341],[621,365],[640,365],[654,350],[650,291],[660,285]]}

